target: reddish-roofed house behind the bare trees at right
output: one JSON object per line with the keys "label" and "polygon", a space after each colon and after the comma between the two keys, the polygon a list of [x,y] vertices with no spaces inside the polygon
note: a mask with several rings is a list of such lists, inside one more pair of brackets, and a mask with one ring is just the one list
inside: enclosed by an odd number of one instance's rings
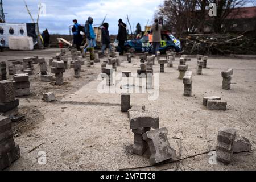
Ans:
{"label": "reddish-roofed house behind the bare trees at right", "polygon": [[[256,31],[256,7],[233,9],[222,24],[223,32]],[[208,19],[204,27],[205,33],[213,32],[212,20]]]}

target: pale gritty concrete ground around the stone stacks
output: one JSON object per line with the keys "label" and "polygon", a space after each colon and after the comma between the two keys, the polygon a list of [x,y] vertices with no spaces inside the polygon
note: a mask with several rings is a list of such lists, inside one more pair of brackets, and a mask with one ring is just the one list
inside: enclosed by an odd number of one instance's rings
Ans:
{"label": "pale gritty concrete ground around the stone stacks", "polygon": [[[3,52],[1,60],[21,59],[33,55],[49,58],[58,49],[31,52]],[[101,63],[105,59],[101,59]],[[122,56],[117,72],[139,69],[138,57],[127,63]],[[256,60],[210,57],[203,75],[195,75],[196,59],[187,62],[193,71],[192,97],[184,97],[184,84],[178,80],[177,66],[165,68],[159,75],[159,98],[148,100],[147,94],[133,94],[132,105],[146,105],[159,114],[160,127],[167,127],[171,147],[180,157],[178,162],[151,166],[148,151],[143,156],[131,152],[133,133],[127,113],[121,113],[120,94],[100,94],[97,80],[101,64],[83,65],[81,78],[73,78],[73,69],[64,73],[63,86],[40,82],[30,76],[31,96],[20,97],[19,112],[26,119],[13,123],[15,142],[21,156],[7,170],[255,170],[256,164]],[[39,67],[35,66],[35,73]],[[233,68],[232,89],[222,90],[221,71]],[[154,65],[159,73],[160,66]],[[11,76],[9,76],[11,78]],[[53,92],[57,101],[42,101],[42,93]],[[204,96],[221,96],[228,110],[207,110]],[[234,127],[237,134],[248,138],[251,152],[234,154],[232,164],[210,165],[208,153],[214,151],[220,127]],[[39,146],[39,147],[37,147]],[[37,147],[37,148],[35,148]],[[35,148],[35,149],[34,149]],[[46,165],[39,165],[39,152],[47,155]]]}

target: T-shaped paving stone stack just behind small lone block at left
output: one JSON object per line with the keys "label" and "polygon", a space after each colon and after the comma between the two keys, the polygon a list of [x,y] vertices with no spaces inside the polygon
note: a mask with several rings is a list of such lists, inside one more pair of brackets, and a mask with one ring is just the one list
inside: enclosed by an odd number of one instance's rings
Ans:
{"label": "T-shaped paving stone stack just behind small lone block at left", "polygon": [[65,72],[65,65],[63,61],[52,61],[51,72],[55,74],[56,85],[63,85],[63,73]]}

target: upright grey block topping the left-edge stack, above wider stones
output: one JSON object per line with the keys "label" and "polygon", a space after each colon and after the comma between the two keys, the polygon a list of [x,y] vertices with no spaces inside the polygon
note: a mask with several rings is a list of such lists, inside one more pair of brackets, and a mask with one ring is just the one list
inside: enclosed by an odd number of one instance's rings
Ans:
{"label": "upright grey block topping the left-edge stack, above wider stones", "polygon": [[0,102],[14,101],[14,97],[13,81],[0,81]]}

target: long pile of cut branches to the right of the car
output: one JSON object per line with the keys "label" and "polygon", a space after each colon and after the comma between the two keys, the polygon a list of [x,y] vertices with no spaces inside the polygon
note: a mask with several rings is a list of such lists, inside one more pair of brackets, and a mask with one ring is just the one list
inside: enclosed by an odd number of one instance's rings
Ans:
{"label": "long pile of cut branches to the right of the car", "polygon": [[225,55],[256,53],[256,39],[244,34],[189,34],[180,38],[186,54]]}

